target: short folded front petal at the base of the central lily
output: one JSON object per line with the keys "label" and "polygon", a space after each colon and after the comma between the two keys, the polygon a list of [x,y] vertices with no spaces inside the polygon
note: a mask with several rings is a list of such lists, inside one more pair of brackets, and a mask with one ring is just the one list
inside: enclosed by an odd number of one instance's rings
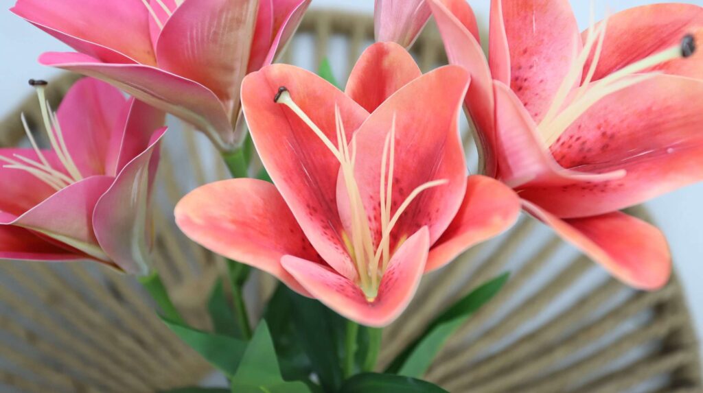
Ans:
{"label": "short folded front petal at the base of the central lily", "polygon": [[396,251],[381,279],[378,296],[370,302],[354,281],[314,262],[286,255],[281,260],[290,274],[314,298],[359,324],[383,327],[400,316],[423,276],[430,232],[423,227]]}

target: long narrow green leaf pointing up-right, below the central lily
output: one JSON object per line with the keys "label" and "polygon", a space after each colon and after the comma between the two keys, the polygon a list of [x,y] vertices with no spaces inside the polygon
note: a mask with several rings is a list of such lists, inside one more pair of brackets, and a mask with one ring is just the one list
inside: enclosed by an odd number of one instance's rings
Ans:
{"label": "long narrow green leaf pointing up-right, below the central lily", "polygon": [[508,277],[509,274],[505,273],[487,282],[446,309],[418,340],[393,361],[387,372],[414,378],[424,375],[449,336],[489,302],[503,288]]}

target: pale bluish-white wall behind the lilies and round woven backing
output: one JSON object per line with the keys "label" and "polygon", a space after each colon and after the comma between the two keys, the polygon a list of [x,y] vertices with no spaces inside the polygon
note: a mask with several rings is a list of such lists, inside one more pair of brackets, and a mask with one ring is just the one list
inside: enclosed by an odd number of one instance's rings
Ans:
{"label": "pale bluish-white wall behind the lilies and round woven backing", "polygon": [[[59,1],[59,0],[53,0]],[[703,0],[681,1],[703,5]],[[1,8],[9,8],[13,1],[2,0]],[[611,12],[642,4],[651,4],[652,0],[595,0],[597,16],[605,14],[606,6]],[[660,1],[661,2],[661,1]],[[372,0],[313,0],[318,8],[344,8],[350,11],[373,12]],[[489,0],[473,0],[477,18],[480,22],[488,20]],[[589,20],[589,4],[586,0],[572,0],[574,13],[581,27],[586,27]],[[637,45],[637,37],[632,37]],[[27,86],[27,79],[48,78],[56,70],[38,65],[37,56],[44,51],[62,51],[65,46],[48,34],[32,27],[8,11],[0,10],[0,116],[4,116],[20,99],[32,93]],[[697,105],[700,105],[697,102]],[[703,126],[702,126],[703,128]],[[642,138],[647,138],[643,130]],[[703,132],[703,129],[701,130]],[[680,189],[677,192],[650,201],[647,206],[654,213],[654,218],[669,238],[673,259],[678,274],[685,284],[690,308],[694,314],[699,335],[703,335],[703,184]]]}

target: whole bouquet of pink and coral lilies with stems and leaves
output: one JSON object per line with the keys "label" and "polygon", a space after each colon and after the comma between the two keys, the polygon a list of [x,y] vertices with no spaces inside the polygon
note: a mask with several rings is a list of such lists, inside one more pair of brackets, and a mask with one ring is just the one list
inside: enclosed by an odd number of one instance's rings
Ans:
{"label": "whole bouquet of pink and coral lilies with stems and leaves", "polygon": [[[231,386],[181,393],[445,392],[423,374],[508,274],[415,321],[425,333],[385,370],[382,328],[423,274],[521,211],[626,284],[666,284],[662,232],[620,210],[703,179],[703,8],[640,6],[579,32],[567,0],[491,0],[486,55],[465,0],[376,0],[378,42],[342,90],[328,69],[273,64],[310,2],[18,0],[13,13],[75,50],[39,62],[86,77],[56,111],[30,81],[50,146],[25,122],[30,147],[0,149],[0,258],[138,277],[165,329]],[[450,64],[423,74],[406,48],[431,16]],[[205,133],[233,177],[174,212],[228,258],[212,332],[188,326],[150,261],[166,114]],[[281,283],[255,321],[251,267]]]}

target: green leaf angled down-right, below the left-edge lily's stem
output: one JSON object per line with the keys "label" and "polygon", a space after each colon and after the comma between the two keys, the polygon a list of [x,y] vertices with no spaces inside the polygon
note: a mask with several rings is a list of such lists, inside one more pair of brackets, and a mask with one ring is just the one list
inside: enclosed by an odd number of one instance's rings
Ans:
{"label": "green leaf angled down-right, below the left-edge lily's stem", "polygon": [[226,335],[198,331],[163,317],[162,321],[210,364],[228,376],[236,373],[240,359],[242,359],[247,347],[246,342]]}

